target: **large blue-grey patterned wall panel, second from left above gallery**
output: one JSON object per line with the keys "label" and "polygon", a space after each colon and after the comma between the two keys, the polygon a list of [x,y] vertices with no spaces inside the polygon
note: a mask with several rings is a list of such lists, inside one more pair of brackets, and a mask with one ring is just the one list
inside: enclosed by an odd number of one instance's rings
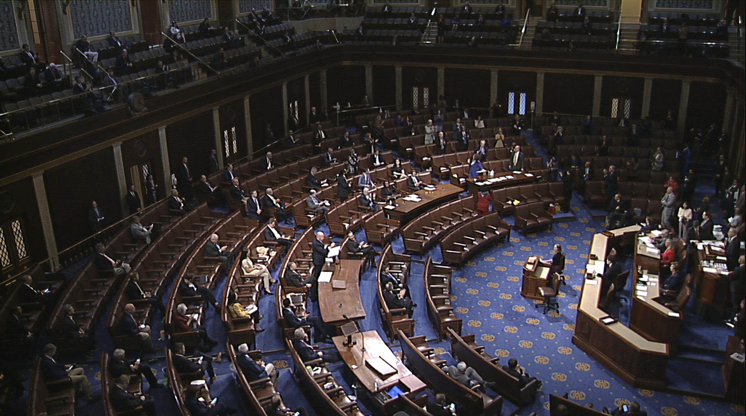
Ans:
{"label": "large blue-grey patterned wall panel, second from left above gallery", "polygon": [[68,8],[72,19],[72,36],[80,39],[108,34],[110,30],[132,30],[129,0],[73,0]]}

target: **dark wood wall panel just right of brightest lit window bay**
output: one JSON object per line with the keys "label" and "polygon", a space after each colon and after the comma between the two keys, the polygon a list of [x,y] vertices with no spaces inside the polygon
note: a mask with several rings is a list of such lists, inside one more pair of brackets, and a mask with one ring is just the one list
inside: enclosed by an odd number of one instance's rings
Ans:
{"label": "dark wood wall panel just right of brightest lit window bay", "polygon": [[544,112],[590,114],[593,110],[593,75],[544,75]]}

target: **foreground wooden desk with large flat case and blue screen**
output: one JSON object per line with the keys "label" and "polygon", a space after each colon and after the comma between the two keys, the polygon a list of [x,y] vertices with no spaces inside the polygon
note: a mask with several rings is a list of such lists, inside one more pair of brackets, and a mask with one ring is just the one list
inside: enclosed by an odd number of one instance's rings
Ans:
{"label": "foreground wooden desk with large flat case and blue screen", "polygon": [[[363,339],[364,338],[364,339]],[[344,335],[332,338],[334,346],[339,351],[339,355],[350,368],[350,371],[360,380],[360,384],[365,386],[372,395],[380,391],[389,391],[394,385],[398,385],[402,391],[407,392],[407,397],[414,399],[417,394],[424,391],[427,385],[417,378],[404,363],[398,359],[386,345],[386,342],[380,338],[377,331],[366,331],[364,333],[355,333],[352,339],[357,344],[352,347],[345,347],[343,344],[347,340]],[[366,351],[363,353],[363,341],[365,342]],[[385,376],[379,374],[370,365],[366,364],[368,359],[381,359],[395,370],[394,373]],[[380,403],[380,402],[378,402]],[[378,404],[377,403],[377,404]],[[385,403],[380,403],[384,405]]]}

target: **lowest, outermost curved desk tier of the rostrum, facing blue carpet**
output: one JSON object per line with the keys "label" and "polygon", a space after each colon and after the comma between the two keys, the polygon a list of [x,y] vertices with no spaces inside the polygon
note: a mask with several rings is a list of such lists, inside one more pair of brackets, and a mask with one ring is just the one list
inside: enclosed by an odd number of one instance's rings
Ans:
{"label": "lowest, outermost curved desk tier of the rostrum, facing blue carpet", "polygon": [[[633,225],[595,234],[591,242],[589,263],[606,261],[606,253],[613,244],[627,238],[630,233],[637,233],[639,229],[639,225]],[[665,387],[668,345],[649,341],[620,322],[605,325],[599,321],[608,315],[598,307],[601,283],[601,279],[586,278],[583,281],[572,343],[633,387]]]}

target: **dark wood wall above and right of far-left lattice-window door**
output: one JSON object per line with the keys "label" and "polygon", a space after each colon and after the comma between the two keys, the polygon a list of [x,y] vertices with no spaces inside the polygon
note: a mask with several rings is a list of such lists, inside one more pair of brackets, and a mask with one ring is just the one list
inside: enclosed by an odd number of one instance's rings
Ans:
{"label": "dark wood wall above and right of far-left lattice-window door", "polygon": [[[5,194],[5,192],[8,193]],[[25,177],[22,180],[10,183],[10,185],[3,186],[0,188],[0,198],[2,201],[10,201],[9,198],[12,198],[13,201],[13,207],[3,206],[3,209],[0,210],[0,224],[21,218],[26,251],[31,256],[31,260],[38,262],[46,259],[47,251],[37,205],[37,195],[34,192],[34,180],[31,177]],[[8,212],[1,212],[4,210]],[[5,236],[5,238],[9,239],[10,236]]]}

